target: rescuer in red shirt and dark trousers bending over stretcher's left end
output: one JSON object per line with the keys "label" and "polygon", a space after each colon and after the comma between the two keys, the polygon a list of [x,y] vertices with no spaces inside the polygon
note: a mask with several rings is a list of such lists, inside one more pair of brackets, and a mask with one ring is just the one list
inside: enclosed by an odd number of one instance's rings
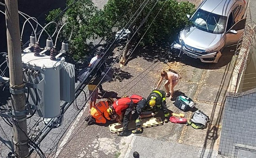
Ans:
{"label": "rescuer in red shirt and dark trousers bending over stretcher's left end", "polygon": [[120,98],[107,109],[108,114],[116,113],[119,116],[118,122],[123,120],[123,131],[118,133],[118,136],[128,136],[128,123],[133,109],[134,103],[129,97]]}

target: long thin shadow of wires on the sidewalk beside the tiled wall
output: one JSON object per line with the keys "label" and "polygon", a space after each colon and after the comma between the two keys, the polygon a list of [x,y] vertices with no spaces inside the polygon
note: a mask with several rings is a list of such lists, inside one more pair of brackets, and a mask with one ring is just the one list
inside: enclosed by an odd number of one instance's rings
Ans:
{"label": "long thin shadow of wires on the sidewalk beside the tiled wall", "polygon": [[[232,63],[231,63],[232,64]],[[225,72],[228,71],[228,69],[231,67],[231,64],[229,64],[226,68],[225,68]],[[208,155],[209,157],[211,157],[212,155],[212,152],[213,152],[213,148],[214,148],[214,144],[216,143],[216,141],[218,141],[218,138],[219,138],[219,134],[218,134],[218,126],[221,124],[221,119],[222,119],[222,114],[224,112],[224,106],[218,106],[217,105],[217,102],[219,101],[220,97],[221,97],[221,92],[223,89],[225,89],[224,87],[224,82],[225,80],[229,80],[231,79],[232,76],[230,76],[230,78],[228,78],[228,73],[225,73],[222,77],[222,80],[221,80],[221,84],[219,86],[219,89],[218,89],[218,93],[216,95],[216,98],[215,98],[215,101],[214,101],[214,106],[213,106],[213,111],[211,113],[211,117],[210,117],[210,122],[209,124],[211,126],[208,126],[207,127],[207,133],[206,133],[206,137],[205,137],[205,140],[204,140],[204,145],[203,145],[203,151],[201,152],[201,155],[200,157],[205,157],[205,154]],[[221,104],[224,105],[225,104],[225,101],[226,101],[226,93],[227,93],[228,89],[226,88],[225,89],[225,96],[224,96],[224,99],[222,100]],[[214,118],[214,116],[216,116],[216,113],[217,114],[217,118]],[[213,121],[216,121],[216,122],[213,122]],[[210,143],[210,153],[205,153],[205,150],[206,150],[206,146],[209,147],[209,140],[211,141]],[[209,148],[208,148],[209,149]],[[207,149],[207,150],[208,150]]]}

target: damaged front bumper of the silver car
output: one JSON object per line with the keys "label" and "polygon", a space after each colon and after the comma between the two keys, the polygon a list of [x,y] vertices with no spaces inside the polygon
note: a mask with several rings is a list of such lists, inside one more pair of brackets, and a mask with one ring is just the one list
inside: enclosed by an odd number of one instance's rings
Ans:
{"label": "damaged front bumper of the silver car", "polygon": [[185,46],[182,46],[181,44],[179,44],[177,42],[173,42],[171,45],[171,48],[178,49],[182,55],[186,54],[189,57],[196,58],[196,59],[198,58],[203,63],[218,63],[219,58],[222,55],[220,51],[215,51],[212,53],[198,55],[198,54],[195,54],[192,51],[186,49]]}

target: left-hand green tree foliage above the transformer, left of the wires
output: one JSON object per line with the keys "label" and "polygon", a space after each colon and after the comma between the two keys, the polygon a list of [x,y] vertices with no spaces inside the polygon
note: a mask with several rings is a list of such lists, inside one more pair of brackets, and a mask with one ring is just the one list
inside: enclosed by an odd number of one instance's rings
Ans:
{"label": "left-hand green tree foliage above the transformer, left of the wires", "polygon": [[[73,3],[73,0],[67,0],[67,6],[71,3]],[[50,22],[59,12],[59,9],[51,11],[46,16],[46,21]],[[65,25],[58,41],[67,40],[73,29],[71,40],[69,41],[69,53],[74,60],[82,60],[87,57],[91,49],[91,44],[88,41],[96,39],[96,33],[100,33],[97,26],[95,26],[95,24],[100,23],[100,19],[94,18],[96,14],[98,15],[99,11],[92,0],[79,0],[62,17],[56,19],[59,28],[64,23],[71,24]]]}

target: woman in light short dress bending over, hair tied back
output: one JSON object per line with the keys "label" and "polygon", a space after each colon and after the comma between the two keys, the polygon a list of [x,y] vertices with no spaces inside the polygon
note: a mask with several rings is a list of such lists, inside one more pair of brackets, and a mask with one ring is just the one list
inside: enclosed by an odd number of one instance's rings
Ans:
{"label": "woman in light short dress bending over, hair tied back", "polygon": [[179,82],[180,75],[178,72],[176,72],[172,69],[162,71],[161,78],[160,78],[159,82],[157,83],[157,86],[155,87],[155,89],[157,89],[159,87],[159,85],[162,83],[163,79],[166,80],[164,83],[165,90],[167,91],[166,96],[167,97],[169,96],[169,99],[171,99],[173,92],[174,92],[173,88]]}

